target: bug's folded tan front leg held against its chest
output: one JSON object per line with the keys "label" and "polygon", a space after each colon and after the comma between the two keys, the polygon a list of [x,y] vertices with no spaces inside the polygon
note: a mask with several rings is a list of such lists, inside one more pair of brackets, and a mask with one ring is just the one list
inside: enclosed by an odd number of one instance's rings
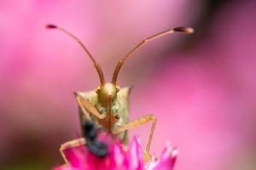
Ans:
{"label": "bug's folded tan front leg held against its chest", "polygon": [[84,99],[79,94],[75,93],[75,97],[77,102],[79,103],[79,106],[86,116],[88,120],[91,120],[90,115],[87,112],[90,112],[92,115],[96,116],[99,119],[103,119],[106,115],[102,115],[96,108],[90,104],[90,102],[87,99]]}

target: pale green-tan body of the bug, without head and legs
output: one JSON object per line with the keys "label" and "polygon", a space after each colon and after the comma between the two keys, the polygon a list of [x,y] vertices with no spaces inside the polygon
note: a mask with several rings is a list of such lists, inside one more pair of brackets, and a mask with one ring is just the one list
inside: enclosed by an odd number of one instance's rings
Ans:
{"label": "pale green-tan body of the bug, without head and legs", "polygon": [[[90,102],[90,104],[93,105],[104,116],[108,116],[109,114],[112,114],[113,116],[119,116],[119,119],[116,122],[109,122],[109,119],[99,120],[96,116],[93,116],[88,111],[86,114],[84,114],[79,105],[79,116],[81,124],[83,124],[84,121],[93,121],[96,123],[97,127],[102,127],[103,129],[105,128],[106,130],[109,129],[110,133],[113,131],[113,129],[122,127],[124,124],[129,122],[130,92],[130,87],[120,88],[119,92],[116,93],[116,96],[111,101],[111,111],[109,111],[108,109],[109,102],[102,100],[100,98],[101,94],[96,93],[95,90],[89,92],[78,92],[77,94],[79,94],[84,99],[87,99]],[[127,143],[127,131],[119,133],[119,138],[122,139],[124,143]]]}

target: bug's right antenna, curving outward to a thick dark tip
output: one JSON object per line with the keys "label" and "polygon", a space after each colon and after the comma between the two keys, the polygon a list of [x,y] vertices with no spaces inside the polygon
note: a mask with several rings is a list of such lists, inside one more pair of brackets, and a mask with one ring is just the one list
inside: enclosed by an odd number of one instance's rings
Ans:
{"label": "bug's right antenna, curving outward to a thick dark tip", "polygon": [[176,28],[168,29],[166,31],[162,31],[158,34],[155,34],[154,36],[144,39],[142,42],[137,44],[137,46],[135,48],[132,48],[128,54],[126,54],[122,59],[119,60],[118,64],[116,65],[116,67],[114,69],[114,72],[113,72],[112,82],[114,84],[116,84],[117,77],[119,75],[119,71],[120,71],[122,65],[124,65],[125,60],[128,59],[131,56],[131,54],[133,54],[135,51],[137,51],[139,48],[143,47],[143,45],[150,42],[151,40],[154,40],[159,37],[164,37],[164,36],[166,36],[168,34],[172,34],[174,32],[182,32],[185,34],[191,34],[194,32],[194,30],[193,30],[193,28],[190,28],[190,27],[176,27]]}

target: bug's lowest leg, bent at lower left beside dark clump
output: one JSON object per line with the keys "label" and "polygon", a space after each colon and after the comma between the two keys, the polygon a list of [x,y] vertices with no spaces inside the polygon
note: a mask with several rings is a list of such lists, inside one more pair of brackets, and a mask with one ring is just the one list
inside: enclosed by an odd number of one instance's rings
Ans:
{"label": "bug's lowest leg, bent at lower left beside dark clump", "polygon": [[85,143],[86,143],[86,141],[84,138],[79,138],[79,139],[69,140],[69,141],[65,142],[64,144],[61,144],[60,152],[61,152],[61,156],[63,157],[64,161],[66,163],[68,163],[67,158],[64,154],[64,150],[67,150],[68,148],[75,148],[80,145],[84,145]]}

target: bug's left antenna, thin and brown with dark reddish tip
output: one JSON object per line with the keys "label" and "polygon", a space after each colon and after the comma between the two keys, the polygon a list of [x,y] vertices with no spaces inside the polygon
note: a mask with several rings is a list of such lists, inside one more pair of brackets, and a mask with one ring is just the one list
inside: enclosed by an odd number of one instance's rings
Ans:
{"label": "bug's left antenna, thin and brown with dark reddish tip", "polygon": [[46,28],[58,29],[58,30],[66,33],[68,36],[73,37],[73,39],[76,40],[76,42],[79,42],[81,47],[84,49],[85,53],[89,55],[91,61],[93,62],[94,66],[96,68],[96,71],[98,72],[98,75],[100,77],[101,84],[103,85],[105,83],[101,66],[98,63],[96,63],[96,60],[93,58],[92,54],[90,54],[89,50],[84,46],[83,42],[81,42],[78,37],[75,37],[72,33],[70,33],[69,31],[65,30],[64,28],[61,28],[59,26],[55,26],[55,25],[52,25],[52,24],[47,25]]}

